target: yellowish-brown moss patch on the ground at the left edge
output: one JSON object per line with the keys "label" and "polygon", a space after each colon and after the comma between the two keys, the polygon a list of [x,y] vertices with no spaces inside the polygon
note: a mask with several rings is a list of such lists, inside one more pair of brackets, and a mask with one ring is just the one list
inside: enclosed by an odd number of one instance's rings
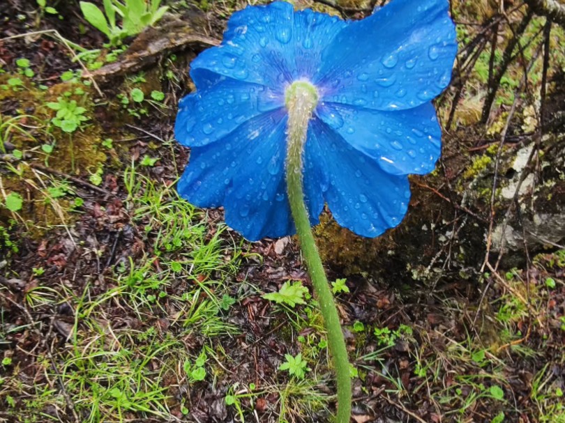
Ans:
{"label": "yellowish-brown moss patch on the ground at the left edge", "polygon": [[[0,85],[10,75],[0,75]],[[0,89],[0,100],[13,104],[9,116],[0,116],[0,122],[14,116],[16,125],[10,130],[10,143],[22,151],[21,160],[0,164],[7,171],[2,175],[5,190],[18,192],[24,198],[24,206],[18,212],[26,224],[30,236],[43,236],[46,229],[54,225],[72,224],[79,216],[73,204],[76,186],[70,185],[64,176],[89,180],[89,176],[105,167],[107,148],[102,141],[107,134],[94,118],[94,105],[90,87],[77,80],[56,84],[49,89],[40,89],[31,81],[24,80],[22,89]],[[52,123],[57,113],[47,104],[59,98],[75,100],[84,107],[84,116],[89,120],[75,132],[63,132]],[[43,170],[38,167],[45,167]],[[67,185],[61,196],[50,190]],[[13,217],[8,210],[0,209],[0,224]]]}

